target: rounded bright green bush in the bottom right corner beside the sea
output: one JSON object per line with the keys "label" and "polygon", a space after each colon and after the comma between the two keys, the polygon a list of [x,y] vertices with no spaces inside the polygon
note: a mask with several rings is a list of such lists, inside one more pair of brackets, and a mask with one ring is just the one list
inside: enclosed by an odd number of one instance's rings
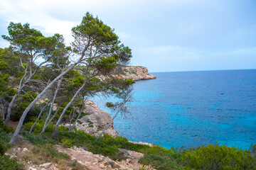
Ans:
{"label": "rounded bright green bush in the bottom right corner beside the sea", "polygon": [[186,169],[255,169],[250,151],[225,145],[207,145],[183,151]]}

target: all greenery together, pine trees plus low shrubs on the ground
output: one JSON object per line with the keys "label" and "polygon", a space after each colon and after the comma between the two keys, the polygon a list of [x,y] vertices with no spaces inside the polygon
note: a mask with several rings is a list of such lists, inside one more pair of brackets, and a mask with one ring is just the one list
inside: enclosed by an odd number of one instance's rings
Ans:
{"label": "all greenery together, pine trees plus low shrubs on the ground", "polygon": [[[92,14],[86,13],[72,29],[75,41],[71,47],[65,46],[62,35],[45,37],[28,23],[10,23],[8,30],[9,36],[3,38],[11,46],[0,49],[0,169],[23,169],[17,159],[6,155],[15,145],[31,147],[26,154],[17,155],[19,160],[51,162],[58,169],[87,167],[58,152],[55,145],[80,147],[112,160],[127,159],[124,150],[140,152],[144,157],[139,162],[154,169],[255,169],[255,145],[250,149],[217,143],[166,149],[134,144],[125,137],[101,136],[103,132],[94,137],[77,130],[75,123],[87,114],[82,112],[87,98],[99,93],[119,98],[117,103],[106,103],[116,115],[125,113],[125,103],[132,100],[134,81],[111,74],[122,74],[119,67],[129,63],[131,50]],[[11,121],[18,121],[15,130],[8,126]],[[92,121],[87,122],[93,127]],[[68,123],[68,128],[62,123]]]}

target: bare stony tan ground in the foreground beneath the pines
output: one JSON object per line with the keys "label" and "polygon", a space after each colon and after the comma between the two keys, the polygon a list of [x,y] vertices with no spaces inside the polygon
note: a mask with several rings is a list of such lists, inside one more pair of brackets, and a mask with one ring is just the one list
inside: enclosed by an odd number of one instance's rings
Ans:
{"label": "bare stony tan ground in the foreground beneath the pines", "polygon": [[[13,149],[6,152],[6,155],[9,155],[11,158],[16,158],[19,160],[21,164],[25,165],[25,169],[28,170],[58,170],[58,164],[52,164],[50,162],[46,162],[44,164],[33,164],[32,160],[26,159],[23,160],[26,155],[31,152],[30,149],[32,145],[26,145],[26,147],[14,147]],[[139,169],[142,168],[142,164],[138,163],[138,160],[143,157],[142,153],[124,150],[126,153],[127,159],[122,161],[114,161],[108,157],[104,157],[100,154],[92,154],[92,152],[88,152],[85,149],[78,147],[66,148],[60,145],[54,146],[58,149],[59,152],[63,152],[68,154],[71,159],[76,160],[79,164],[86,167],[86,169],[90,170],[112,170],[112,169]],[[146,167],[147,169],[152,169],[150,166]],[[71,169],[70,169],[71,170]]]}

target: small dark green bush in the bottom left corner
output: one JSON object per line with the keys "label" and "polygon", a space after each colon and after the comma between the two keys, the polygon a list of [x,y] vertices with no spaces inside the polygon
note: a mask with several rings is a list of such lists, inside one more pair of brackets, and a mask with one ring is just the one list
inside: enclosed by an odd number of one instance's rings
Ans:
{"label": "small dark green bush in the bottom left corner", "polygon": [[9,156],[0,156],[0,169],[3,170],[21,170],[23,164],[18,164],[16,159],[10,159]]}

